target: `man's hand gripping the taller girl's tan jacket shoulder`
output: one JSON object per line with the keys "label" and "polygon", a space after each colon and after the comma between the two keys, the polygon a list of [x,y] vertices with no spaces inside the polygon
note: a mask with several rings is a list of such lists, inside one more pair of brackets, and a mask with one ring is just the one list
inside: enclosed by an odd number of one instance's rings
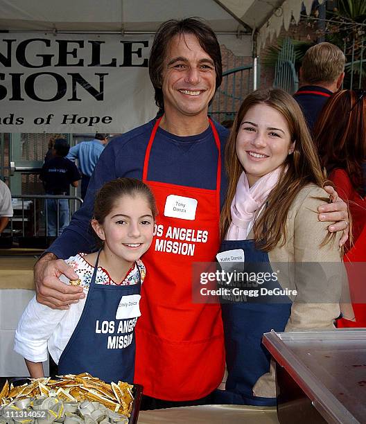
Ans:
{"label": "man's hand gripping the taller girl's tan jacket shoulder", "polygon": [[340,238],[340,246],[344,245],[348,239],[349,232],[349,216],[347,204],[338,197],[338,193],[331,186],[325,186],[324,190],[331,197],[331,203],[323,204],[317,208],[319,212],[318,218],[320,221],[331,221],[334,224],[329,225],[328,230],[333,233],[334,231],[343,231]]}

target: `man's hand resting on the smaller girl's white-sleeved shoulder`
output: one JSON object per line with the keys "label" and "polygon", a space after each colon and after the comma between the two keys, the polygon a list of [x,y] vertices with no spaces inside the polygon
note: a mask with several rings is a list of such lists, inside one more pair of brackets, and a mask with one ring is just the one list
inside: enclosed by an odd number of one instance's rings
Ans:
{"label": "man's hand resting on the smaller girl's white-sleeved shoulder", "polygon": [[46,254],[37,261],[34,279],[38,302],[53,309],[69,309],[70,303],[77,303],[85,297],[82,287],[62,283],[58,279],[61,274],[70,280],[79,278],[64,260],[54,254]]}

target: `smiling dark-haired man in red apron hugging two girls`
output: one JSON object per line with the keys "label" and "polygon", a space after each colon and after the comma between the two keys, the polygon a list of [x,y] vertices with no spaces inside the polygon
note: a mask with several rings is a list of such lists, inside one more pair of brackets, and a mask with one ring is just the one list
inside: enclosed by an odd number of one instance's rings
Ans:
{"label": "smiling dark-haired man in red apron hugging two girls", "polygon": [[[67,308],[83,297],[58,281],[60,273],[69,279],[76,274],[55,259],[90,248],[87,225],[94,193],[104,182],[124,176],[148,183],[159,216],[155,242],[143,256],[147,273],[134,381],[143,385],[148,399],[143,406],[151,409],[207,403],[223,377],[220,307],[192,303],[191,279],[192,264],[214,261],[218,251],[228,132],[207,117],[222,80],[220,46],[211,28],[196,19],[165,22],[155,35],[149,67],[155,100],[164,112],[161,120],[153,119],[107,146],[85,203],[37,263],[35,281],[37,299],[48,306]],[[324,212],[336,210],[332,204]],[[347,214],[328,217],[347,219]],[[343,227],[338,223],[333,229]]]}

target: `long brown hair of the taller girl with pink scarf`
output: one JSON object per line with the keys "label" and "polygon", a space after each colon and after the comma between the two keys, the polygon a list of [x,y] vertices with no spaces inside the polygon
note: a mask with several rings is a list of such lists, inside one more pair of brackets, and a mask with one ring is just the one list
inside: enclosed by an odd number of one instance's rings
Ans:
{"label": "long brown hair of the taller girl with pink scarf", "polygon": [[[234,121],[232,132],[225,149],[225,167],[229,178],[227,197],[220,217],[220,234],[224,238],[232,222],[230,206],[236,192],[238,179],[243,166],[236,154],[236,137],[247,111],[254,105],[264,104],[276,109],[288,123],[291,142],[295,141],[295,150],[284,161],[279,182],[267,199],[267,206],[254,222],[256,246],[270,251],[283,237],[286,242],[286,218],[293,200],[299,191],[309,183],[324,186],[325,178],[311,139],[302,111],[289,94],[280,89],[257,90],[243,101]],[[286,172],[284,169],[286,168]]]}

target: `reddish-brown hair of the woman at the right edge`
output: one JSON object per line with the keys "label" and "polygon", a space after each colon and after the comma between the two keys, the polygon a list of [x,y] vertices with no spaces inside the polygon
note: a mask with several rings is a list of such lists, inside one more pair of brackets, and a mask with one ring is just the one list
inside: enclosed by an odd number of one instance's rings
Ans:
{"label": "reddish-brown hair of the woman at the right edge", "polygon": [[333,94],[317,120],[314,139],[327,172],[345,170],[354,189],[364,196],[366,91],[342,90]]}

